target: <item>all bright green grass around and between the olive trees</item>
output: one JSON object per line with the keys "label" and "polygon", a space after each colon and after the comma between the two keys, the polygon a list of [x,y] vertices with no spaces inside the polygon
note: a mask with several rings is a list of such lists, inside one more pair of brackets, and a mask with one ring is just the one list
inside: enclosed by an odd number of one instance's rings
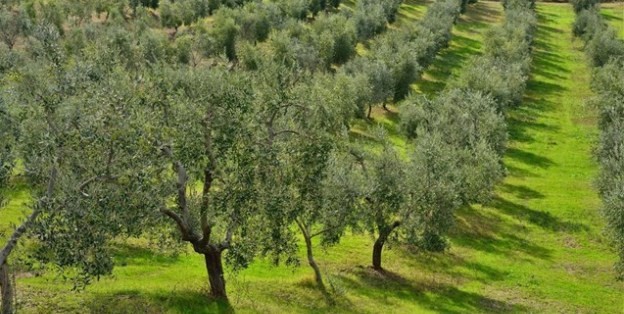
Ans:
{"label": "all bright green grass around and between the olive trees", "polygon": [[[423,12],[424,2],[408,2]],[[405,6],[404,8],[405,9]],[[415,88],[433,97],[477,55],[488,27],[500,21],[498,2],[481,1],[454,28],[444,51]],[[419,13],[419,14],[421,14]],[[615,255],[602,235],[594,112],[582,44],[570,33],[574,13],[564,4],[539,4],[533,74],[524,104],[510,112],[507,179],[489,206],[458,213],[452,246],[441,254],[391,247],[383,275],[371,271],[372,239],[350,235],[335,248],[317,248],[337,304],[329,307],[312,271],[258,260],[228,272],[231,305],[212,302],[203,259],[170,256],[136,240],[115,246],[114,276],[86,291],[52,275],[18,279],[23,312],[97,313],[621,313],[624,285],[613,279]],[[416,13],[414,13],[416,14]],[[376,111],[394,127],[396,114]],[[400,139],[397,139],[400,140]],[[22,193],[22,194],[19,194]],[[16,190],[4,218],[19,218],[27,195]],[[2,224],[5,224],[2,219]],[[5,227],[7,225],[5,224]],[[303,253],[301,254],[303,258]]]}

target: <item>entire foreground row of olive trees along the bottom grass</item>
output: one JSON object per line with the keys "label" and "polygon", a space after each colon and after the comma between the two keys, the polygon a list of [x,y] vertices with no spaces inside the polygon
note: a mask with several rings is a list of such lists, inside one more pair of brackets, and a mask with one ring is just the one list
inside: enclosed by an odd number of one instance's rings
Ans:
{"label": "entire foreground row of olive trees along the bottom grass", "polygon": [[36,256],[76,267],[82,283],[112,270],[111,239],[173,225],[204,257],[213,296],[227,297],[223,258],[235,268],[258,255],[297,263],[297,232],[323,287],[313,238],[332,244],[347,227],[370,231],[377,269],[400,226],[406,239],[439,248],[448,209],[482,193],[491,173],[463,166],[473,152],[424,125],[408,162],[390,145],[381,155],[349,145],[348,121],[369,83],[360,76],[309,71],[272,50],[253,67],[188,66],[178,38],[162,40],[139,17],[62,31],[45,8],[34,8],[24,49],[3,48],[2,114],[12,121],[3,132],[16,143],[3,163],[22,161],[34,198],[14,238],[34,226]]}

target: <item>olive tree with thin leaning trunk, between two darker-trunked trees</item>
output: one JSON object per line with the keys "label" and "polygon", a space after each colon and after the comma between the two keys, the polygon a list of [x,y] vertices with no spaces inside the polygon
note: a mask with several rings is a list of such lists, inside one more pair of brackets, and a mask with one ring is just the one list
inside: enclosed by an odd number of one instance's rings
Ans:
{"label": "olive tree with thin leaning trunk, between two darker-trunked trees", "polygon": [[[296,67],[269,62],[261,68],[258,106],[266,139],[262,150],[261,193],[264,215],[271,223],[269,246],[277,261],[287,262],[298,245],[291,226],[303,236],[308,264],[323,293],[326,286],[314,258],[313,239],[323,245],[338,242],[353,220],[357,194],[345,180],[341,150],[344,130],[354,111],[355,94],[346,75],[307,75]],[[288,248],[285,250],[280,247]]]}

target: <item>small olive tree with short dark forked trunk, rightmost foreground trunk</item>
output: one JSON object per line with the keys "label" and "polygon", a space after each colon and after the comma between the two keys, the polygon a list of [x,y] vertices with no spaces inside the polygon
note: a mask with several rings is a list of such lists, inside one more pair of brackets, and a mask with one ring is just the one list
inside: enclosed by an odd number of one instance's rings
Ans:
{"label": "small olive tree with short dark forked trunk, rightmost foreground trunk", "polygon": [[356,169],[364,177],[361,223],[375,236],[372,267],[378,271],[383,270],[383,249],[390,241],[443,249],[443,235],[460,204],[456,150],[439,134],[420,137],[407,149],[405,159],[384,142],[381,152],[360,157]]}

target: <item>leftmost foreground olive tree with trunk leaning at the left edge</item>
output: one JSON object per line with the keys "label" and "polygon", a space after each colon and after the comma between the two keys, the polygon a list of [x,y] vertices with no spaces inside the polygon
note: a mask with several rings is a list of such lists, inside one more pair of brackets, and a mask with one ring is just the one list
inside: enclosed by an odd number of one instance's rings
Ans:
{"label": "leftmost foreground olive tree with trunk leaning at the left edge", "polygon": [[[23,163],[33,200],[30,215],[0,251],[0,264],[6,267],[21,237],[34,234],[44,243],[40,249],[51,252],[42,254],[46,256],[43,261],[78,267],[83,278],[109,273],[106,264],[111,260],[101,254],[106,250],[101,236],[115,237],[121,231],[111,226],[139,219],[96,208],[103,202],[99,196],[108,194],[105,185],[117,183],[119,178],[113,168],[125,159],[115,158],[118,149],[128,144],[124,140],[133,139],[115,132],[123,125],[114,125],[121,122],[123,112],[112,104],[100,106],[100,98],[92,91],[104,82],[93,75],[92,64],[76,59],[69,62],[55,26],[39,25],[31,41],[28,50],[36,59],[11,76],[6,100],[10,120],[18,129],[15,158]],[[110,91],[103,94],[119,101]],[[98,197],[94,199],[95,194]],[[118,219],[107,224],[111,217],[107,215]],[[71,259],[57,258],[60,256]],[[3,283],[3,295],[10,291]],[[12,312],[10,301],[3,300],[3,305]]]}

